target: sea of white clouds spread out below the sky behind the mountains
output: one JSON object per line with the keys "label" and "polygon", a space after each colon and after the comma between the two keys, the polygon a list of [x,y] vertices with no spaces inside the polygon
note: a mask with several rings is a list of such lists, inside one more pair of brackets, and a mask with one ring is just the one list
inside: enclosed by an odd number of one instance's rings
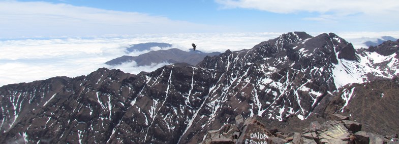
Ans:
{"label": "sea of white clouds spread out below the sky behind the mountains", "polygon": [[[336,33],[352,42],[356,49],[362,43],[389,35],[399,37],[398,32],[385,33]],[[20,82],[32,82],[54,76],[77,77],[87,75],[98,68],[120,69],[137,74],[151,72],[168,63],[137,67],[129,62],[118,66],[104,64],[112,59],[129,55],[138,56],[149,51],[127,53],[126,47],[145,42],[165,42],[172,47],[152,47],[151,50],[178,48],[191,49],[196,43],[202,52],[225,52],[251,49],[254,45],[278,37],[282,33],[176,33],[141,34],[103,37],[23,38],[0,40],[0,86]],[[320,33],[310,33],[316,36]]]}

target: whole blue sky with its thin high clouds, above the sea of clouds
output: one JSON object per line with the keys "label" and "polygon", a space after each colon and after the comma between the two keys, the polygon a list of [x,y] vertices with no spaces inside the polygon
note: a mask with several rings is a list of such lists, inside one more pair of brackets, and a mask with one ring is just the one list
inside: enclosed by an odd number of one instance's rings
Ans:
{"label": "whole blue sky with its thin high clouds, above the sea of clouds", "polygon": [[0,38],[397,31],[396,0],[0,1]]}

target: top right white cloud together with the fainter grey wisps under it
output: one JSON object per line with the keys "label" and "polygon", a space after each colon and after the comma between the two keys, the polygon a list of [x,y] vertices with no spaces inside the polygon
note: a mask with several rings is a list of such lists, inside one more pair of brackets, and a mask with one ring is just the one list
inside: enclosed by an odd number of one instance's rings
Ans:
{"label": "top right white cloud together with the fainter grey wisps under it", "polygon": [[[396,0],[215,0],[224,9],[243,8],[279,14],[309,13],[304,20],[337,22],[376,21],[394,22],[399,20],[399,3]],[[315,16],[312,16],[314,15]],[[302,17],[302,15],[298,15]]]}

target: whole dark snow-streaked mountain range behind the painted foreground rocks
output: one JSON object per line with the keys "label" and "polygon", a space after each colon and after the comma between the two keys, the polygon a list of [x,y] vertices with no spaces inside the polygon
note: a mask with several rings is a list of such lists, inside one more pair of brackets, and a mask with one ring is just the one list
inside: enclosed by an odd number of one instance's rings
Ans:
{"label": "whole dark snow-streaked mountain range behind the painted foreground rocks", "polygon": [[0,142],[198,143],[237,116],[295,131],[332,114],[393,134],[398,45],[356,50],[334,33],[289,32],[196,66],[9,84],[0,87]]}

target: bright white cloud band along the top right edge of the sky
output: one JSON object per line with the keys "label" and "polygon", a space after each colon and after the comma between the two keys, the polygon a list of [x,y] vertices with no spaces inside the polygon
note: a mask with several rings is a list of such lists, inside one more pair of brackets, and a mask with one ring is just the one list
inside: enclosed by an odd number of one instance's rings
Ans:
{"label": "bright white cloud band along the top right edge of the sky", "polygon": [[317,13],[345,13],[345,14],[374,14],[398,12],[399,3],[395,0],[375,1],[375,0],[216,0],[224,8],[247,8],[269,11],[273,13],[298,13],[298,12],[317,12]]}

